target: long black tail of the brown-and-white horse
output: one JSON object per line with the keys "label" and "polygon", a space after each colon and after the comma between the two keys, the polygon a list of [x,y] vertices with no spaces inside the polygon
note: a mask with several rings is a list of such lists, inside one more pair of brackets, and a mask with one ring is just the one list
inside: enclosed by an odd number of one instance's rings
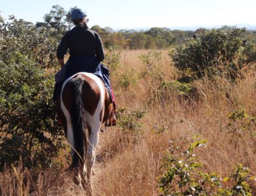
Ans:
{"label": "long black tail of the brown-and-white horse", "polygon": [[75,78],[71,80],[71,123],[73,126],[73,157],[68,173],[77,168],[79,164],[83,166],[84,156],[86,154],[86,132],[84,131],[84,105],[82,100],[82,88],[84,80]]}

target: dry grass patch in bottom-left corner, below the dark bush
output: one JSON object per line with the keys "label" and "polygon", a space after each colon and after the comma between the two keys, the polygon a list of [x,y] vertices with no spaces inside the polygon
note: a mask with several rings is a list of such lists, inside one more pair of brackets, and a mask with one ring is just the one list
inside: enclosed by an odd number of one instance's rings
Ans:
{"label": "dry grass patch in bottom-left corner, below the dark bush", "polygon": [[[21,164],[20,164],[21,165]],[[10,168],[0,173],[0,195],[84,195],[84,191],[75,186],[64,171],[29,171],[22,168]]]}

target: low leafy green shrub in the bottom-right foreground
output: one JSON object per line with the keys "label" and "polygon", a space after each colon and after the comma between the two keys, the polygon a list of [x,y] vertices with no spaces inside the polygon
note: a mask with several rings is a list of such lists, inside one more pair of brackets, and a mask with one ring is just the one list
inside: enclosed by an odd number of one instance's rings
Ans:
{"label": "low leafy green shrub in the bottom-right foreground", "polygon": [[[205,146],[205,140],[196,140],[182,154],[180,147],[171,146],[162,159],[163,174],[159,177],[161,195],[248,195],[250,169],[238,164],[235,172],[222,179],[217,173],[204,173],[194,153],[196,147]],[[175,154],[175,155],[173,155]],[[181,156],[182,157],[179,157]],[[229,181],[229,184],[226,182]]]}

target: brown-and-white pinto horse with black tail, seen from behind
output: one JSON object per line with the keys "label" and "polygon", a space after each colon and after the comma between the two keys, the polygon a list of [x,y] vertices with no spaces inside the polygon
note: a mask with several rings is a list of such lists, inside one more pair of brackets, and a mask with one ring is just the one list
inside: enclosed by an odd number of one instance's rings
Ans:
{"label": "brown-and-white pinto horse with black tail, seen from behind", "polygon": [[72,162],[67,169],[73,181],[92,195],[92,167],[96,159],[101,124],[113,111],[101,78],[79,72],[67,78],[57,103],[57,113],[71,146]]}

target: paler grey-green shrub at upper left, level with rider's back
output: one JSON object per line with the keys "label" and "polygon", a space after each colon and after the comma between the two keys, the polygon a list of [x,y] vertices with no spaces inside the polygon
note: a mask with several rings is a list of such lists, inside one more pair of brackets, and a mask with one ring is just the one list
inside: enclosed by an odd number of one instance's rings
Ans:
{"label": "paler grey-green shrub at upper left, level with rider's back", "polygon": [[17,20],[10,16],[5,23],[0,21],[0,55],[1,60],[8,61],[10,55],[19,52],[30,60],[36,61],[42,68],[58,65],[56,50],[57,38],[51,36],[55,29],[36,28],[32,23]]}

